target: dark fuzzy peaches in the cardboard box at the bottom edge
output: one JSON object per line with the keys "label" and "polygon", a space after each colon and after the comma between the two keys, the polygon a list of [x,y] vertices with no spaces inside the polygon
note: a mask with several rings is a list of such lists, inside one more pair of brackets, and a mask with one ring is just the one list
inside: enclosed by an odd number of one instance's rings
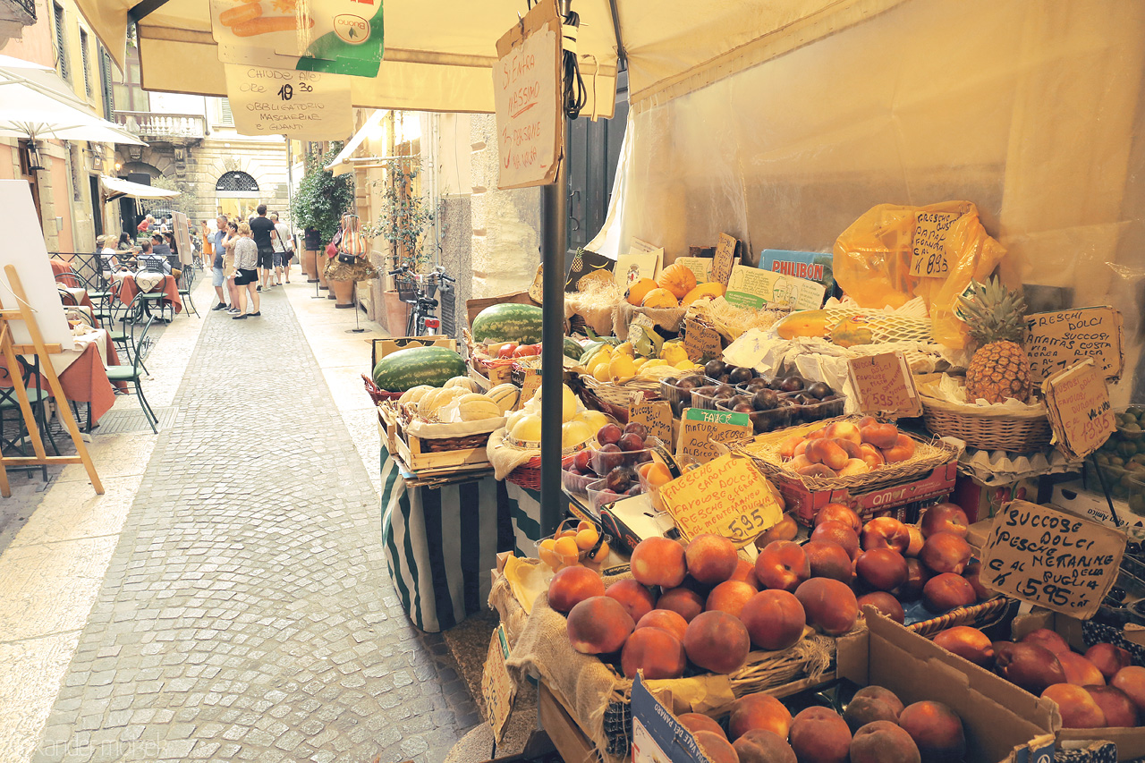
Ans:
{"label": "dark fuzzy peaches in the cardboard box at the bottom edge", "polygon": [[942,702],[903,705],[882,686],[855,692],[842,715],[808,707],[795,717],[771,694],[748,694],[732,705],[727,731],[700,713],[680,723],[713,763],[919,763],[961,761],[962,718]]}

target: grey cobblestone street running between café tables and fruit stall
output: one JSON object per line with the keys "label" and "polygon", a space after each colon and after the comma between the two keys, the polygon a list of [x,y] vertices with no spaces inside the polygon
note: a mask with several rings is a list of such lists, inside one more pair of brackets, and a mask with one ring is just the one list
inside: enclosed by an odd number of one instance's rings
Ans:
{"label": "grey cobblestone street running between caf\u00e9 tables and fruit stall", "polygon": [[283,289],[205,313],[172,404],[30,760],[442,761],[477,709]]}

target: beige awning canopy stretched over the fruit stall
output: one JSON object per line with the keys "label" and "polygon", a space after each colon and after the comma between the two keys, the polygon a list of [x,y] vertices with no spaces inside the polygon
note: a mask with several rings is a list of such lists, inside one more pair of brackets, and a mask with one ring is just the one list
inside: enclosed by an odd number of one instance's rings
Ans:
{"label": "beige awning canopy stretched over the fruit stall", "polygon": [[[630,101],[639,107],[689,93],[901,1],[572,0],[572,10],[581,17],[577,52],[585,86],[593,87],[595,71],[598,112],[610,116],[616,30],[627,57]],[[120,65],[133,8],[155,7],[137,22],[144,88],[227,94],[208,0],[77,5]],[[388,0],[381,69],[373,79],[349,78],[354,104],[491,113],[497,39],[524,9],[522,0]],[[585,113],[591,112],[590,105]]]}

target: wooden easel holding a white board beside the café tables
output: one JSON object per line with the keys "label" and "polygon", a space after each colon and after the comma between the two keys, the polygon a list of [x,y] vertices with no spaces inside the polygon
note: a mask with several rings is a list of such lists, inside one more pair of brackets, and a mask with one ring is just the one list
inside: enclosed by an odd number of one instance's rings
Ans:
{"label": "wooden easel holding a white board beside the caf\u00e9 tables", "polygon": [[[3,355],[5,361],[8,363],[8,376],[11,377],[13,387],[16,390],[16,398],[19,400],[19,410],[24,415],[24,425],[27,427],[27,435],[32,440],[32,450],[35,455],[21,457],[0,456],[0,495],[6,498],[11,495],[11,488],[8,485],[8,466],[44,466],[48,464],[84,464],[84,469],[87,470],[88,479],[92,480],[92,487],[95,488],[95,493],[103,495],[103,483],[100,482],[100,475],[95,472],[95,463],[92,461],[92,456],[84,445],[84,438],[80,435],[79,425],[76,424],[76,418],[71,414],[68,396],[64,395],[64,388],[60,385],[60,377],[56,376],[56,369],[52,365],[50,355],[58,355],[63,352],[63,347],[44,344],[44,335],[40,333],[40,327],[35,323],[35,315],[27,304],[27,296],[24,293],[24,285],[16,274],[16,267],[14,265],[6,265],[3,272],[8,276],[8,285],[11,288],[11,293],[16,297],[18,308],[5,308],[3,302],[0,301],[0,354]],[[13,321],[24,322],[27,333],[32,337],[31,345],[17,345],[13,340],[10,325]],[[35,425],[35,415],[32,411],[32,403],[27,398],[27,388],[24,386],[24,376],[19,372],[21,365],[16,357],[17,355],[35,355],[40,360],[40,365],[42,367],[40,372],[48,379],[48,387],[52,390],[52,396],[56,401],[56,415],[60,416],[64,426],[68,427],[68,433],[71,434],[72,443],[76,446],[74,456],[49,456],[45,451],[44,439],[40,436],[40,430]]]}

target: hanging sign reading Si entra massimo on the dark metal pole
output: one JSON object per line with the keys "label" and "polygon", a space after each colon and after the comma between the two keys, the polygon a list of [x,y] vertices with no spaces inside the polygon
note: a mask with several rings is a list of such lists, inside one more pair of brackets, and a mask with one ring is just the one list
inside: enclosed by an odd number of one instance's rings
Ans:
{"label": "hanging sign reading Si entra massimo on the dark metal pole", "polygon": [[542,0],[497,40],[493,107],[500,188],[546,186],[564,144],[561,115],[561,22],[555,0]]}

